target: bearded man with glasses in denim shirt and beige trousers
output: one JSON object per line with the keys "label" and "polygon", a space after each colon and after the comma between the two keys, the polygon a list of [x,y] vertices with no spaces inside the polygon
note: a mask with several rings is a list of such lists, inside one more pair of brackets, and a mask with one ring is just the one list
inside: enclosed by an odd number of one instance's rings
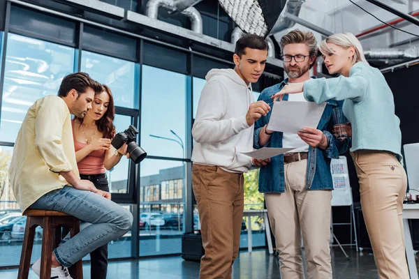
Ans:
{"label": "bearded man with glasses in denim shirt and beige trousers", "polygon": [[[270,97],[286,84],[310,80],[317,42],[313,33],[291,31],[281,38],[280,47],[288,79],[262,91],[259,100]],[[284,95],[284,101],[306,102],[303,93]],[[341,106],[329,100],[317,129],[304,128],[298,134],[267,129],[271,112],[255,123],[254,147],[293,147],[293,153],[272,160],[256,160],[261,166],[259,191],[265,201],[274,232],[282,279],[303,279],[301,236],[307,259],[308,278],[332,278],[330,259],[330,214],[332,199],[331,158],[344,153],[348,142],[332,136],[332,110]]]}

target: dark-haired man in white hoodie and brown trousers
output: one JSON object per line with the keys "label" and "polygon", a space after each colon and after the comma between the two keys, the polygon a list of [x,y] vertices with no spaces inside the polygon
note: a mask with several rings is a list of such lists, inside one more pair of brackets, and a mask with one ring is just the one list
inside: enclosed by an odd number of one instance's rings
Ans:
{"label": "dark-haired man in white hoodie and brown trousers", "polygon": [[198,203],[205,255],[200,279],[230,279],[239,252],[244,196],[243,173],[253,150],[253,124],[270,110],[254,102],[251,82],[265,69],[267,43],[247,34],[237,41],[235,69],[212,69],[207,74],[192,135],[193,193]]}

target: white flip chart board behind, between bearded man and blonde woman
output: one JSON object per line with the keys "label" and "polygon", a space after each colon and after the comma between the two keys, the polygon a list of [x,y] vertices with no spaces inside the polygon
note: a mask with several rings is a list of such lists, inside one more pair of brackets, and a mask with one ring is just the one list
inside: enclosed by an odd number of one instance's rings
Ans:
{"label": "white flip chart board behind, between bearded man and blonde woman", "polygon": [[348,162],[345,156],[339,156],[339,159],[332,159],[330,163],[332,172],[333,190],[332,206],[351,206],[352,189],[349,183]]}

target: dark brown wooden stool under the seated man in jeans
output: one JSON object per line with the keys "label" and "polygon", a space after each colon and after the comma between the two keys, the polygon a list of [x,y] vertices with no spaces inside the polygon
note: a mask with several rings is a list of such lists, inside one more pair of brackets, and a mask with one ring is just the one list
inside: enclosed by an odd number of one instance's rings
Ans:
{"label": "dark brown wooden stool under the seated man in jeans", "polygon": [[[27,216],[27,225],[24,231],[17,279],[27,279],[29,276],[35,229],[38,226],[43,228],[40,278],[50,279],[52,250],[57,248],[61,241],[61,227],[70,227],[70,235],[73,237],[80,232],[80,222],[78,218],[58,211],[27,209],[23,215]],[[81,259],[71,266],[70,274],[74,279],[83,278]]]}

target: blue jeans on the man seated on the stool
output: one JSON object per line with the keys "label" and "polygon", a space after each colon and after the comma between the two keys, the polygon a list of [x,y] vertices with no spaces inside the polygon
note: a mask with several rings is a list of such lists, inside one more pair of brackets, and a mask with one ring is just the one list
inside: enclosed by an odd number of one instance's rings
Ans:
{"label": "blue jeans on the man seated on the stool", "polygon": [[54,250],[57,261],[66,267],[123,236],[133,224],[131,212],[122,206],[93,192],[70,186],[43,195],[30,208],[64,212],[92,224]]}

